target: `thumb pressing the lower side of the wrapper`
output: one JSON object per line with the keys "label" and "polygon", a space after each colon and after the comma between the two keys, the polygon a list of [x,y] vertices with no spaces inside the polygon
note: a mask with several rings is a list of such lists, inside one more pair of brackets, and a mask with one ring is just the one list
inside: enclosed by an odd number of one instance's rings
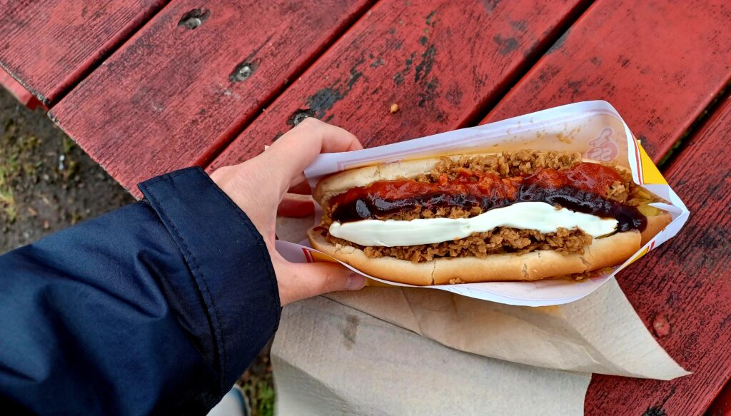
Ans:
{"label": "thumb pressing the lower side of the wrapper", "polygon": [[337,263],[281,262],[274,269],[282,306],[323,293],[359,290],[366,285],[365,277]]}

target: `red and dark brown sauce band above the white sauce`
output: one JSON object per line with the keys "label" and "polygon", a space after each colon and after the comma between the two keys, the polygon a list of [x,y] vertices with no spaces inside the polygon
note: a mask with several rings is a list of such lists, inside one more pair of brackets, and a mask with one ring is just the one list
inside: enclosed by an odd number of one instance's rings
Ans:
{"label": "red and dark brown sauce band above the white sauce", "polygon": [[608,187],[622,181],[611,167],[582,162],[565,170],[542,169],[533,175],[501,178],[496,173],[460,170],[450,180],[442,174],[433,184],[412,180],[380,181],[349,189],[330,199],[333,221],[376,219],[417,207],[474,207],[488,211],[518,202],[560,205],[618,222],[619,232],[644,230],[647,219],[637,208],[606,199]]}

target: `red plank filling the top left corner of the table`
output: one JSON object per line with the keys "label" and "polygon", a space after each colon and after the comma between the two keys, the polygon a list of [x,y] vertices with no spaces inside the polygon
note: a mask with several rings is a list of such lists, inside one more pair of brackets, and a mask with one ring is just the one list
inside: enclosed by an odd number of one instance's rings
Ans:
{"label": "red plank filling the top left corner of the table", "polygon": [[53,105],[166,2],[0,1],[0,67]]}

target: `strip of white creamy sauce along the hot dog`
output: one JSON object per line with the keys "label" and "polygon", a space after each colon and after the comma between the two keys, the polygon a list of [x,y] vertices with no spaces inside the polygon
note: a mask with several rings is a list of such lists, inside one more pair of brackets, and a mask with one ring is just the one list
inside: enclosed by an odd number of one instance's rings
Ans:
{"label": "strip of white creamy sauce along the hot dog", "polygon": [[604,219],[588,213],[556,209],[548,203],[515,203],[495,208],[471,218],[431,218],[400,221],[363,219],[330,224],[330,235],[361,246],[416,246],[466,238],[474,232],[487,232],[495,227],[538,230],[548,233],[558,228],[576,228],[596,238],[617,228],[616,219]]}

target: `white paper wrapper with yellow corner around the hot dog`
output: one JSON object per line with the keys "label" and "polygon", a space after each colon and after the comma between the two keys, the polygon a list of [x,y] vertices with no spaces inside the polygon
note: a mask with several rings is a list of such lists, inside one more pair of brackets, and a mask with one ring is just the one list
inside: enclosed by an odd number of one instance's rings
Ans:
{"label": "white paper wrapper with yellow corner around the hot dog", "polygon": [[[361,151],[323,154],[305,170],[305,175],[314,187],[326,175],[354,167],[447,154],[520,149],[577,151],[589,159],[616,161],[632,170],[635,183],[669,202],[652,205],[670,213],[673,221],[626,262],[596,271],[590,279],[584,281],[556,279],[437,285],[427,288],[510,305],[550,306],[573,302],[594,292],[627,265],[673,237],[688,219],[689,211],[686,206],[673,189],[670,189],[614,107],[603,101],[564,105],[492,124]],[[277,250],[292,262],[337,261],[306,245],[286,241],[278,241]],[[348,265],[346,267],[350,268]],[[352,270],[357,271],[355,268]],[[410,286],[357,272],[384,284]]]}

